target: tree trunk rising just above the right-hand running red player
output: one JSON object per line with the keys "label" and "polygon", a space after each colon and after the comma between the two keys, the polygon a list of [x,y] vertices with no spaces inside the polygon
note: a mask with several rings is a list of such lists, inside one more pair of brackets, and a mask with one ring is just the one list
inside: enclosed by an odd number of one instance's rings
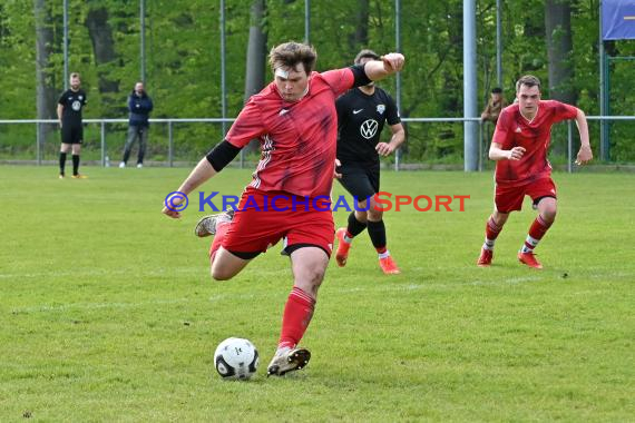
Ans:
{"label": "tree trunk rising just above the right-hand running red player", "polygon": [[574,69],[570,62],[572,8],[568,0],[547,0],[545,29],[549,59],[549,98],[575,104],[576,92],[572,85]]}

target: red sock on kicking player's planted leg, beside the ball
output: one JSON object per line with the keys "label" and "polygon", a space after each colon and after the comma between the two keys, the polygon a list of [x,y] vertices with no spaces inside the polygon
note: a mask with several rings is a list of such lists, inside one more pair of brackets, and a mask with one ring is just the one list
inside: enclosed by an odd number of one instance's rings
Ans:
{"label": "red sock on kicking player's planted leg, beside the ball", "polygon": [[284,306],[279,348],[294,348],[300,343],[313,317],[313,309],[315,309],[315,299],[294,286]]}

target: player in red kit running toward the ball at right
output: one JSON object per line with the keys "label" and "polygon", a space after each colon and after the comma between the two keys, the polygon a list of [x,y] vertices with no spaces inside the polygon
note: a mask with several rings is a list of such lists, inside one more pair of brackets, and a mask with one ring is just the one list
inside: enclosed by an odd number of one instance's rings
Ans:
{"label": "player in red kit running toward the ball at right", "polygon": [[497,161],[496,193],[494,213],[487,220],[485,244],[477,262],[481,267],[491,264],[496,238],[509,214],[520,210],[522,199],[528,195],[538,217],[529,227],[518,259],[529,267],[543,268],[534,248],[556,218],[556,186],[547,160],[554,124],[575,119],[582,144],[576,164],[584,165],[593,159],[588,125],[580,109],[555,100],[540,100],[540,80],[530,75],[516,82],[516,97],[518,102],[501,111],[489,148],[489,158]]}

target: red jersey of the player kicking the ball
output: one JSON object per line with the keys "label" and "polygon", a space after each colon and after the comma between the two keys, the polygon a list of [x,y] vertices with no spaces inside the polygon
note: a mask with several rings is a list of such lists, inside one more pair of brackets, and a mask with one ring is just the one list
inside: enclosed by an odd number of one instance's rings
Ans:
{"label": "red jersey of the player kicking the ball", "polygon": [[225,139],[244,147],[261,142],[250,186],[299,196],[330,196],[338,144],[335,99],[354,81],[351,69],[312,72],[299,101],[282,99],[275,82],[250,98]]}

